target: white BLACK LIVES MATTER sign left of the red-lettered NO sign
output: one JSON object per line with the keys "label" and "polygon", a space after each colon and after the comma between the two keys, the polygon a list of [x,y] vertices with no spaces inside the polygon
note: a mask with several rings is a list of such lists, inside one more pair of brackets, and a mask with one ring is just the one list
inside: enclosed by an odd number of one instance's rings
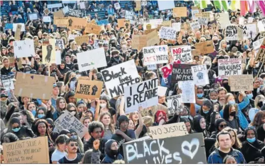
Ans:
{"label": "white BLACK LIVES MATTER sign left of the red-lettered NO sign", "polygon": [[168,46],[151,46],[143,48],[143,64],[158,64],[168,62]]}

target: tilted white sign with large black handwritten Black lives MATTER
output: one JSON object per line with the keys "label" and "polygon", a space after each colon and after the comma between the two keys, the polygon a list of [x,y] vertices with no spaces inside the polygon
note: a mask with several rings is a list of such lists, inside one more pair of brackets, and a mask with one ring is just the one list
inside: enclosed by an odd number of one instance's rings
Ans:
{"label": "tilted white sign with large black handwritten Black lives MATTER", "polygon": [[124,94],[124,87],[140,82],[134,60],[117,64],[101,73],[111,98]]}

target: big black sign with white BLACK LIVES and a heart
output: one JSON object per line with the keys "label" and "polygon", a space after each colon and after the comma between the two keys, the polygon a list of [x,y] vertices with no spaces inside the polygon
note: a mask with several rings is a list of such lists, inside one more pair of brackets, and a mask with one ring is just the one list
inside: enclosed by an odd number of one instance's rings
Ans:
{"label": "big black sign with white BLACK LIVES and a heart", "polygon": [[123,144],[125,163],[207,163],[202,133]]}

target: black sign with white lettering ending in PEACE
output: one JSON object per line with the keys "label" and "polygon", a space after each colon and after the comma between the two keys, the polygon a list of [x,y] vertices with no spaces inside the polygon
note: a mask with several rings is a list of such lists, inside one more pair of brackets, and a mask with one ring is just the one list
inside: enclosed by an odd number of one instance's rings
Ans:
{"label": "black sign with white lettering ending in PEACE", "polygon": [[173,64],[171,83],[193,80],[192,66],[196,64]]}

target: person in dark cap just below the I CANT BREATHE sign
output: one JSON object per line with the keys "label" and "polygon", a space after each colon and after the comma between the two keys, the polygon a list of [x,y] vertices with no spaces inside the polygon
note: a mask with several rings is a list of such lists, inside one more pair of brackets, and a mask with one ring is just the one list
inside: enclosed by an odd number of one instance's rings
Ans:
{"label": "person in dark cap just below the I CANT BREATHE sign", "polygon": [[135,132],[132,129],[128,129],[129,119],[126,115],[121,115],[118,119],[120,129],[116,130],[116,134],[111,139],[118,142],[120,154],[123,155],[123,143],[136,139]]}

